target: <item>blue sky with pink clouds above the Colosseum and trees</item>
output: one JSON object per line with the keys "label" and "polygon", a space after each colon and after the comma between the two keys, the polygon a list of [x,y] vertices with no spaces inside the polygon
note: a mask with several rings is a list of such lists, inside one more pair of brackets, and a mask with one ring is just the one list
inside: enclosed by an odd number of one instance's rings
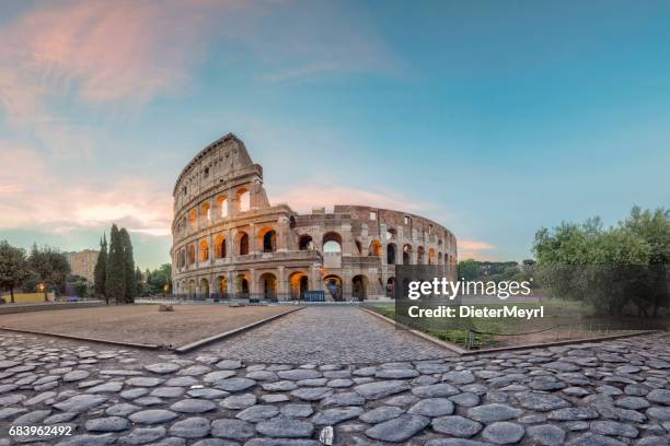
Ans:
{"label": "blue sky with pink clouds above the Colosseum and trees", "polygon": [[665,1],[0,3],[0,239],[170,261],[172,188],[228,132],[270,202],[406,210],[459,257],[670,206]]}

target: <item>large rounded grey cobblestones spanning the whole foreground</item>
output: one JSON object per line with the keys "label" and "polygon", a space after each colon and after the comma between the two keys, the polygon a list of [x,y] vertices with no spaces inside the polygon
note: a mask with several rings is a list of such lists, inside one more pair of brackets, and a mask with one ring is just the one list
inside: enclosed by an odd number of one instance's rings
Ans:
{"label": "large rounded grey cobblestones spanning the whole foreground", "polygon": [[[669,379],[667,334],[291,365],[0,332],[0,445],[668,445]],[[74,435],[7,437],[27,425]]]}

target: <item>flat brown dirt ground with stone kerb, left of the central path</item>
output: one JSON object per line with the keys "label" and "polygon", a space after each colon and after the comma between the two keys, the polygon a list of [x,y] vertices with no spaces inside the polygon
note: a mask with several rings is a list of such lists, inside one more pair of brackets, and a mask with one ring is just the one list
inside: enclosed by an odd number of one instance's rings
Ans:
{"label": "flat brown dirt ground with stone kerb, left of the central path", "polygon": [[54,309],[0,315],[0,328],[176,348],[291,309],[223,305],[174,305],[174,312],[159,312],[158,305]]}

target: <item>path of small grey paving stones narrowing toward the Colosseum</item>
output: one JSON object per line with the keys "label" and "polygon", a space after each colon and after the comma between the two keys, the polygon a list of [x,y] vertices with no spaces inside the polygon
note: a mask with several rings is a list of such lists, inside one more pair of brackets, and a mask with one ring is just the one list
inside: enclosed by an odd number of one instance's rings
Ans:
{"label": "path of small grey paving stones narrowing toward the Colosseum", "polygon": [[313,306],[206,349],[252,362],[356,364],[428,360],[451,352],[353,306]]}

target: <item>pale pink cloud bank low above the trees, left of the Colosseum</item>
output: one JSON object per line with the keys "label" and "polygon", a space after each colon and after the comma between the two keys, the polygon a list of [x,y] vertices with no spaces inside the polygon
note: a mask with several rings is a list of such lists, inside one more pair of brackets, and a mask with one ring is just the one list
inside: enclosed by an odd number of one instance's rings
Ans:
{"label": "pale pink cloud bank low above the trees, left of the Colosseum", "polygon": [[170,233],[169,190],[141,178],[68,178],[54,166],[53,155],[0,141],[0,230],[67,233],[123,222],[147,234]]}

